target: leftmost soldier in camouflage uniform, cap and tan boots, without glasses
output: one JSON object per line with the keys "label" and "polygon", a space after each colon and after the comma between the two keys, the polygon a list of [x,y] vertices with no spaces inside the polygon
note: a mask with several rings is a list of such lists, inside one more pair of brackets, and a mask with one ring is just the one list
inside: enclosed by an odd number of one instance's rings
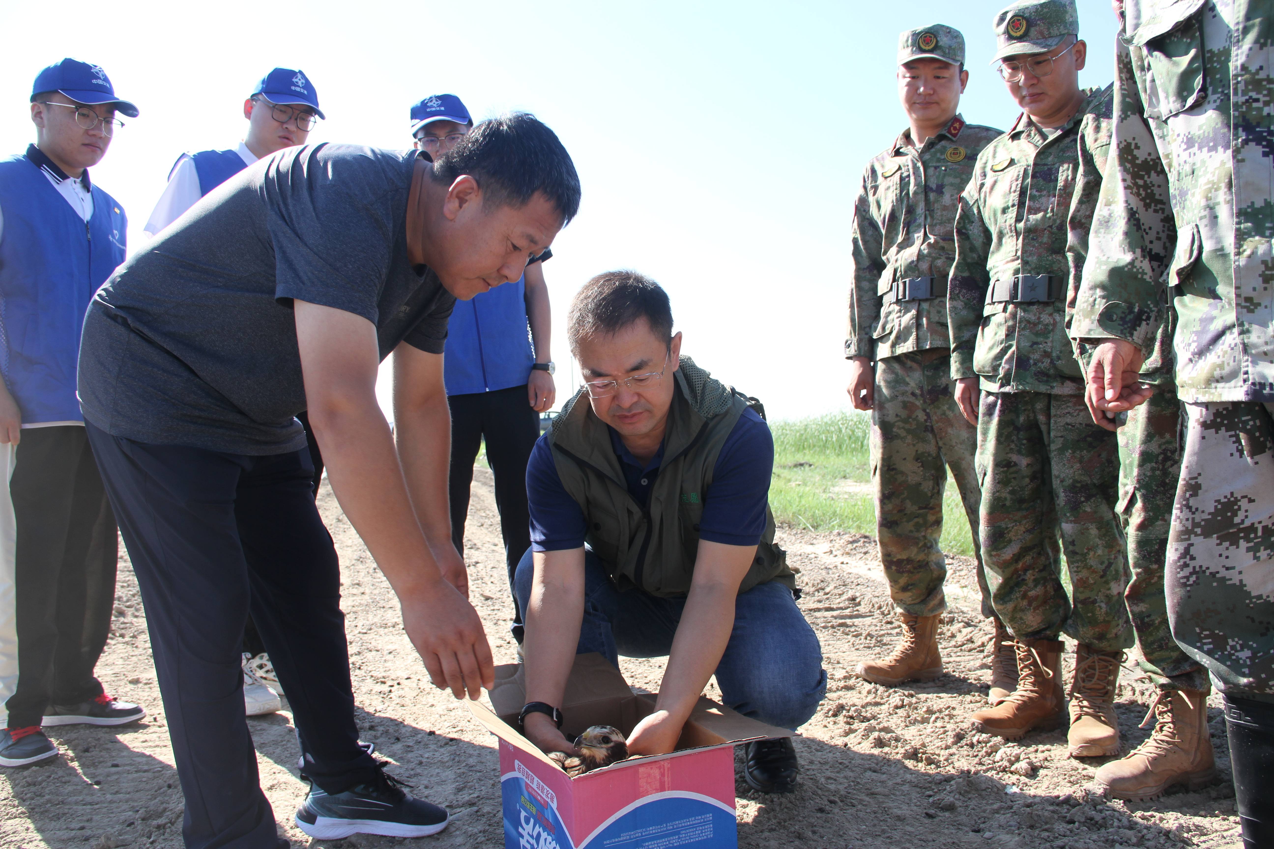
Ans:
{"label": "leftmost soldier in camouflage uniform, cap and tan boots, without glasses", "polygon": [[[957,113],[967,81],[958,31],[934,24],[899,36],[898,95],[911,126],[868,164],[854,210],[848,391],[857,409],[871,410],[880,561],[903,624],[893,656],[857,672],[889,686],[943,671],[936,630],[947,565],[938,541],[948,467],[977,552],[977,432],[952,396],[945,295],[959,193],[1000,131]],[[978,582],[982,612],[992,616],[981,563]],[[1005,658],[992,670],[1004,680],[992,685],[1004,698],[1017,684],[1017,662],[1000,652]]]}

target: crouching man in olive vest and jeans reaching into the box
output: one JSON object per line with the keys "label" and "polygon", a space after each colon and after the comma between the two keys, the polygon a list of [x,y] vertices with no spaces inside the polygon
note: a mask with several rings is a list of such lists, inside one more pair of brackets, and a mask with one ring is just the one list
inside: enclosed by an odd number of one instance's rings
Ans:
{"label": "crouching man in olive vest and jeans reaching into the box", "polygon": [[[680,356],[668,295],[638,274],[590,280],[567,322],[586,383],[531,452],[531,549],[515,582],[525,734],[572,751],[558,706],[586,652],[617,666],[669,656],[656,710],[629,736],[634,755],[675,748],[713,673],[726,705],[800,727],[827,673],[775,545],[775,448],[755,401]],[[791,793],[796,773],[791,740],[748,745],[753,788]]]}

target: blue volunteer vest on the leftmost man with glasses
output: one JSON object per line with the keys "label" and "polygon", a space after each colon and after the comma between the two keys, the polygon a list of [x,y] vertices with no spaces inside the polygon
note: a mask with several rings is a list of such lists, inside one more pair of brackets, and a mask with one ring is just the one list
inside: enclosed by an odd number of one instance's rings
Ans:
{"label": "blue volunteer vest on the leftmost man with glasses", "polygon": [[92,187],[85,223],[25,157],[0,159],[0,351],[23,424],[83,421],[75,398],[89,299],[124,262],[124,207]]}

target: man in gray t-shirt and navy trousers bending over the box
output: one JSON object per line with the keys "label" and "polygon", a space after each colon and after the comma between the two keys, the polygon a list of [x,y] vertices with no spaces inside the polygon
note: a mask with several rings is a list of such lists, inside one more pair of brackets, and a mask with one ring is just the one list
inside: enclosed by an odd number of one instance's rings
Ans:
{"label": "man in gray t-shirt and navy trousers bending over the box", "polygon": [[[296,415],[403,607],[438,687],[476,698],[490,648],[451,545],[447,317],[517,280],[580,182],[527,115],[429,163],[349,145],[279,151],[211,191],[94,297],[79,397],[150,629],[187,845],[274,848],[243,717],[251,608],[297,724],[320,839],[422,836],[414,799],[358,743],[340,575]],[[376,402],[394,354],[397,444]]]}

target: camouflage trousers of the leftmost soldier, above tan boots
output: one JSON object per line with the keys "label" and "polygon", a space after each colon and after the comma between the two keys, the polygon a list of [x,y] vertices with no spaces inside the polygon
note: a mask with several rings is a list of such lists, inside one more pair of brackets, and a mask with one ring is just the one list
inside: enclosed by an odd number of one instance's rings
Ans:
{"label": "camouflage trousers of the leftmost soldier, above tan boots", "polygon": [[961,415],[952,393],[948,349],[911,351],[877,363],[871,410],[877,540],[889,596],[901,611],[933,616],[947,610],[947,559],[939,538],[949,467],[978,558],[982,615],[992,615],[977,550],[976,449],[977,432]]}

